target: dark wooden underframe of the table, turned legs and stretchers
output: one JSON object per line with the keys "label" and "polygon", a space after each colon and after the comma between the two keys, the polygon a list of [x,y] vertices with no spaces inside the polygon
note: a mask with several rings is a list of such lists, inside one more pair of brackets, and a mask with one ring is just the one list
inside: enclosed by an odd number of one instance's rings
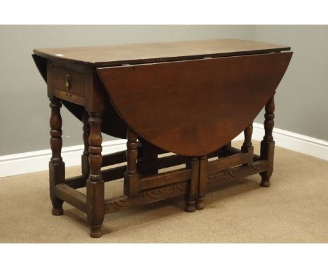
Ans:
{"label": "dark wooden underframe of the table, turned legs and stretchers", "polygon": [[[115,213],[132,206],[184,196],[187,212],[205,207],[208,187],[222,180],[241,178],[259,173],[261,186],[270,186],[273,173],[274,99],[266,104],[265,135],[261,141],[261,154],[254,154],[252,125],[244,130],[245,140],[241,149],[224,147],[206,156],[189,157],[170,154],[139,138],[128,128],[127,149],[102,156],[101,114],[85,112],[83,116],[83,141],[85,149],[81,156],[82,175],[65,178],[62,149],[62,118],[60,99],[50,102],[50,146],[52,158],[49,163],[50,199],[53,215],[62,215],[65,201],[87,214],[90,236],[102,236],[101,225],[105,213]],[[211,161],[209,161],[211,160]],[[121,166],[117,166],[121,164]],[[123,164],[123,165],[122,165]],[[116,165],[116,166],[115,166]],[[183,168],[161,173],[163,168],[184,165]],[[110,167],[101,170],[102,167]],[[114,167],[111,167],[114,166]],[[124,178],[124,195],[104,199],[104,183]],[[78,188],[87,187],[86,194]]]}

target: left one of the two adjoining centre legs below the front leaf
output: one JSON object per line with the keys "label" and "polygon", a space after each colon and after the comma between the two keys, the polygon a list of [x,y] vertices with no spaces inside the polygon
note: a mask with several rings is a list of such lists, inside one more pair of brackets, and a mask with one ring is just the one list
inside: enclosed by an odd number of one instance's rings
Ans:
{"label": "left one of the two adjoining centre legs below the front leaf", "polygon": [[191,168],[191,180],[189,182],[188,192],[186,193],[185,200],[186,212],[193,212],[196,210],[196,199],[198,197],[198,177],[199,177],[199,161],[198,158],[193,157],[189,159],[186,164],[187,168]]}

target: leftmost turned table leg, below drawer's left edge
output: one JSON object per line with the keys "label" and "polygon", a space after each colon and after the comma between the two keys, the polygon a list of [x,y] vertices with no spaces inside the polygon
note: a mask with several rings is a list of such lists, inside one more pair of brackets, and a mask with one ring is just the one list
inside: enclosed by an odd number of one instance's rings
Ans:
{"label": "leftmost turned table leg, below drawer's left edge", "polygon": [[60,115],[62,103],[57,98],[50,100],[50,147],[52,156],[49,162],[50,199],[53,203],[53,215],[62,215],[63,201],[55,197],[55,186],[65,180],[65,164],[62,161],[62,116]]}

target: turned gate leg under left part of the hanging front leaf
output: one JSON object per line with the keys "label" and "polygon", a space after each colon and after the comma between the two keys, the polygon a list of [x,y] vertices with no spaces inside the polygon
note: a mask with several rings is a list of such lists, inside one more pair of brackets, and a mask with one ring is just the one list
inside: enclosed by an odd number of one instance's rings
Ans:
{"label": "turned gate leg under left part of the hanging front leaf", "polygon": [[139,193],[139,174],[137,173],[138,135],[131,128],[128,128],[126,138],[128,142],[126,142],[127,169],[124,175],[124,194],[131,197]]}

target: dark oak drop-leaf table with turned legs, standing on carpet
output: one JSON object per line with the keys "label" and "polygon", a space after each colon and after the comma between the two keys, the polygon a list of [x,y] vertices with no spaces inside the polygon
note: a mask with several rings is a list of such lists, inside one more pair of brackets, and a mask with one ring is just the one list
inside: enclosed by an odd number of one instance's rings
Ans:
{"label": "dark oak drop-leaf table with turned legs, standing on carpet", "polygon": [[[41,48],[32,56],[50,99],[53,215],[62,215],[63,201],[70,203],[86,213],[90,236],[102,236],[105,213],[172,196],[184,195],[188,212],[203,209],[207,187],[220,180],[259,173],[261,186],[270,185],[273,95],[292,58],[289,47],[220,39]],[[65,178],[62,105],[83,122],[78,177]],[[263,107],[258,156],[252,122]],[[231,147],[242,131],[241,149]],[[126,138],[127,149],[102,156],[102,133]],[[174,154],[158,157],[168,152]],[[119,178],[124,196],[105,199],[104,182]],[[81,187],[86,194],[76,190]]]}

